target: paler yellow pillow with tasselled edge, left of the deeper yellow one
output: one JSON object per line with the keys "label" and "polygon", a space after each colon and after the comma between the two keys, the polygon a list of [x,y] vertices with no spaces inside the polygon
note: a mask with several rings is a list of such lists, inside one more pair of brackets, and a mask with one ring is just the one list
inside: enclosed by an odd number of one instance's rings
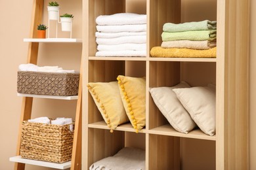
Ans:
{"label": "paler yellow pillow with tasselled edge, left of the deeper yellow one", "polygon": [[129,119],[123,108],[117,82],[89,82],[89,92],[110,131]]}

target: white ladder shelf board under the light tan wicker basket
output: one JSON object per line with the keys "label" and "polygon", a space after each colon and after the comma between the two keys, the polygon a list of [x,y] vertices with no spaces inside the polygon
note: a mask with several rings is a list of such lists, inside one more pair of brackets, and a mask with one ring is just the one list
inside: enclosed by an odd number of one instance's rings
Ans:
{"label": "white ladder shelf board under the light tan wicker basket", "polygon": [[64,163],[53,163],[48,161],[38,161],[38,160],[28,160],[21,158],[21,156],[13,156],[9,158],[10,161],[18,162],[18,163],[26,163],[30,165],[37,165],[42,167],[51,167],[56,169],[67,169],[71,167],[71,161],[67,161]]}

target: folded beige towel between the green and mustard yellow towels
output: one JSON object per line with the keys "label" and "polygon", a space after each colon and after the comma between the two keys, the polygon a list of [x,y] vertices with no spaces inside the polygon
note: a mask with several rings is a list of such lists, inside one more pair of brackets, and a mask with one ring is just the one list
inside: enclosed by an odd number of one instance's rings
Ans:
{"label": "folded beige towel between the green and mustard yellow towels", "polygon": [[191,48],[197,50],[207,50],[216,46],[216,41],[190,41],[190,40],[177,40],[177,41],[163,41],[161,47],[163,48]]}

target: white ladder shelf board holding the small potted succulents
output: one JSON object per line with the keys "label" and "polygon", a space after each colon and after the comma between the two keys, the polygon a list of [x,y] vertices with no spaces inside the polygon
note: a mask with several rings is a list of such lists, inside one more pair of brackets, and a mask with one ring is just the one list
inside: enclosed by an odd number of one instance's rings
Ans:
{"label": "white ladder shelf board holding the small potted succulents", "polygon": [[24,42],[82,42],[82,39],[68,39],[68,38],[24,39]]}

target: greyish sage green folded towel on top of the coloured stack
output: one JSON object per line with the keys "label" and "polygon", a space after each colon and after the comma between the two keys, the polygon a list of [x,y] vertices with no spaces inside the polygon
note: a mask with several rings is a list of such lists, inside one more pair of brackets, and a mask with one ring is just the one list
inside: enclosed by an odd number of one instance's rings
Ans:
{"label": "greyish sage green folded towel on top of the coloured stack", "polygon": [[217,22],[204,20],[201,22],[185,22],[182,24],[165,23],[163,25],[163,31],[165,32],[200,31],[209,29],[217,29]]}

